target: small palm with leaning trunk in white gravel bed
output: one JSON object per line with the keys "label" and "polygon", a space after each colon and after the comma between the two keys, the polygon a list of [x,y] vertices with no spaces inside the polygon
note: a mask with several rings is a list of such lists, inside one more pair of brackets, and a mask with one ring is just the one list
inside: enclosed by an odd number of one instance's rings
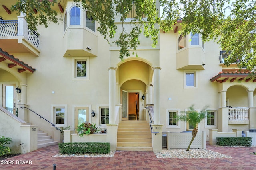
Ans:
{"label": "small palm with leaning trunk in white gravel bed", "polygon": [[198,124],[206,117],[206,116],[211,116],[206,114],[207,113],[207,108],[208,106],[205,106],[200,112],[196,111],[194,109],[194,105],[188,107],[188,111],[182,111],[182,115],[178,116],[178,120],[181,121],[185,121],[188,122],[192,127],[192,139],[188,145],[188,148],[186,149],[186,151],[189,151],[190,149],[190,145],[192,144],[192,142],[194,141],[196,134],[198,132],[197,130],[197,126]]}

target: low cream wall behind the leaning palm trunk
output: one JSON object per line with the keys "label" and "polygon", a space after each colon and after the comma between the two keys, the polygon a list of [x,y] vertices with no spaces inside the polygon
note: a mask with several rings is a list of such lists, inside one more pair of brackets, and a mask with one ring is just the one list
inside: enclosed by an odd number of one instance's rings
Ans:
{"label": "low cream wall behind the leaning palm trunk", "polygon": [[[187,148],[192,132],[167,132],[167,149]],[[198,132],[190,148],[206,149],[206,132]]]}

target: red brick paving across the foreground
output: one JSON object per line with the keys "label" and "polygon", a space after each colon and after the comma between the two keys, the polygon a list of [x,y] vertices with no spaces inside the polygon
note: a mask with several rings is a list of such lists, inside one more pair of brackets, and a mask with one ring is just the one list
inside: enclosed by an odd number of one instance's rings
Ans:
{"label": "red brick paving across the foreground", "polygon": [[[58,154],[58,145],[53,145],[6,159],[14,165],[0,165],[0,169],[52,170],[56,164],[56,170],[256,170],[256,155],[252,154],[255,147],[222,148],[207,144],[206,149],[233,158],[156,158],[154,152],[131,151],[116,152],[112,158],[52,157]],[[28,164],[22,165],[26,161]]]}

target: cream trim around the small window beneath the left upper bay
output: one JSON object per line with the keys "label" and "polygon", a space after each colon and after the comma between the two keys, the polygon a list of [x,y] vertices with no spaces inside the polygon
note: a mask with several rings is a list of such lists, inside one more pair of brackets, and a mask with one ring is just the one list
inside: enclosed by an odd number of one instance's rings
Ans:
{"label": "cream trim around the small window beneath the left upper bay", "polygon": [[[76,61],[86,61],[86,76],[76,77]],[[89,80],[89,57],[72,57],[72,80]]]}

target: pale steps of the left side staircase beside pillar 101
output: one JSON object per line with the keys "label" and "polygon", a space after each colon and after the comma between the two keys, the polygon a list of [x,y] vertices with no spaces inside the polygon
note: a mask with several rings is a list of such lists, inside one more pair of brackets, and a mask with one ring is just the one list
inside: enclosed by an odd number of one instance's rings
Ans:
{"label": "pale steps of the left side staircase beside pillar 101", "polygon": [[58,144],[57,141],[54,141],[51,136],[48,136],[44,131],[37,131],[37,148],[48,147],[50,145]]}

